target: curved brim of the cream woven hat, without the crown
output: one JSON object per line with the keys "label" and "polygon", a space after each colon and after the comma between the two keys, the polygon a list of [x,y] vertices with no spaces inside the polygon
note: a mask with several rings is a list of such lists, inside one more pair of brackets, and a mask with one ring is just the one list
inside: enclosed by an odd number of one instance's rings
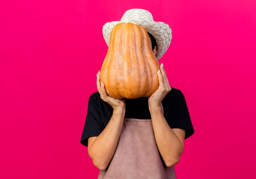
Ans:
{"label": "curved brim of the cream woven hat, without the crown", "polygon": [[103,25],[103,28],[102,28],[103,37],[107,45],[109,45],[110,33],[112,29],[115,27],[116,24],[119,24],[119,23],[137,24],[144,27],[146,31],[151,33],[157,42],[157,52],[155,54],[155,57],[157,60],[159,60],[164,55],[164,53],[167,51],[168,47],[171,44],[172,30],[168,24],[164,22],[155,22],[155,21],[151,22],[151,21],[129,20],[129,21],[112,21],[112,22],[107,22],[106,24]]}

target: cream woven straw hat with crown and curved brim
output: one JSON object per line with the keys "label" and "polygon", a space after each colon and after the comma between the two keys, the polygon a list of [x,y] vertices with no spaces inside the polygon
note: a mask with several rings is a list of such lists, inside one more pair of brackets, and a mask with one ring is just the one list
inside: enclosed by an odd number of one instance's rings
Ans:
{"label": "cream woven straw hat with crown and curved brim", "polygon": [[157,42],[157,52],[155,54],[157,60],[164,55],[171,44],[172,31],[168,24],[164,22],[155,22],[152,14],[147,10],[130,9],[124,13],[120,21],[107,22],[103,25],[102,32],[107,45],[109,45],[112,29],[119,23],[137,24],[151,33]]}

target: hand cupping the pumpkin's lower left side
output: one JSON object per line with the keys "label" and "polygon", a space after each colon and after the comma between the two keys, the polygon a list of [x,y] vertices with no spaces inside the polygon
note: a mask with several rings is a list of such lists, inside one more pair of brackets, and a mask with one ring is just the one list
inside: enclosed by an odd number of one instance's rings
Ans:
{"label": "hand cupping the pumpkin's lower left side", "polygon": [[110,104],[113,109],[125,109],[124,99],[115,99],[107,94],[105,84],[100,82],[100,73],[100,71],[98,71],[97,73],[97,89],[99,91],[99,94],[101,95],[101,99]]}

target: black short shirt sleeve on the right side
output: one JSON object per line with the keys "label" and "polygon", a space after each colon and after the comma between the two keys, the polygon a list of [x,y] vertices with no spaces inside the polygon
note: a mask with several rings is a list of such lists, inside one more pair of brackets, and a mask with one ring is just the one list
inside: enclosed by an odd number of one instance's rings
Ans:
{"label": "black short shirt sleeve on the right side", "polygon": [[172,99],[167,102],[166,106],[167,109],[164,110],[164,115],[169,126],[171,128],[185,129],[185,139],[193,135],[195,131],[183,93],[178,90]]}

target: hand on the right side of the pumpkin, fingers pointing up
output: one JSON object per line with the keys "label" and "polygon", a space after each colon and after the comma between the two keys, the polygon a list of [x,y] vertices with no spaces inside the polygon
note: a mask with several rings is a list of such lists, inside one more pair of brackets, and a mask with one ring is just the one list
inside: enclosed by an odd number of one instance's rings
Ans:
{"label": "hand on the right side of the pumpkin, fingers pointing up", "polygon": [[160,65],[160,71],[157,72],[157,75],[159,80],[159,86],[157,90],[150,97],[148,97],[148,106],[150,108],[160,106],[160,103],[162,102],[164,97],[171,91],[171,86],[164,71],[163,63]]}

